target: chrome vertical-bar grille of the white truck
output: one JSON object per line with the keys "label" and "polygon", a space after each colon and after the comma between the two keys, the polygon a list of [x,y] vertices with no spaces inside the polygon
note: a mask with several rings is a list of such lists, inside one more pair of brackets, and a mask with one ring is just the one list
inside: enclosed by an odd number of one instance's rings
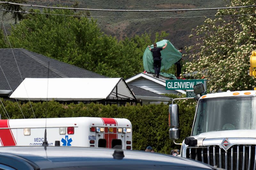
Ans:
{"label": "chrome vertical-bar grille of the white truck", "polygon": [[254,170],[255,145],[234,145],[227,151],[219,146],[187,148],[186,157],[227,170]]}

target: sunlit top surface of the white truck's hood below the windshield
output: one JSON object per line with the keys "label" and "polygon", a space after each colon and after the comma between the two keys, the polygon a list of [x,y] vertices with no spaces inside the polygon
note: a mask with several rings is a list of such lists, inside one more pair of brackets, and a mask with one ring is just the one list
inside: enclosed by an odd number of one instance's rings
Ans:
{"label": "sunlit top surface of the white truck's hood below the windshield", "polygon": [[200,133],[194,138],[256,138],[256,130],[211,131]]}

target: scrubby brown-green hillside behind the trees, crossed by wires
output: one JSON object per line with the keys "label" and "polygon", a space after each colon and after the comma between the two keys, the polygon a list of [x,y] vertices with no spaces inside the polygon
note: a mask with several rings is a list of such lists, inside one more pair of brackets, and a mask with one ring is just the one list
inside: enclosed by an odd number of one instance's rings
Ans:
{"label": "scrubby brown-green hillside behind the trees, crossed by wires", "polygon": [[[65,5],[71,6],[75,0],[28,0],[28,4],[38,5]],[[192,9],[192,8],[212,8],[223,7],[227,5],[225,0],[168,0],[149,3],[145,0],[131,1],[101,1],[101,0],[79,0],[79,8],[93,9],[129,9],[129,10],[154,10],[154,9]],[[175,47],[190,46],[193,44],[188,35],[191,29],[197,25],[201,25],[204,21],[202,18],[129,18],[129,17],[187,17],[187,16],[204,16],[214,15],[216,11],[190,11],[190,12],[105,12],[91,11],[91,16],[104,17],[128,17],[128,18],[97,18],[97,23],[101,30],[108,35],[116,36],[117,39],[132,37],[135,34],[141,35],[144,32],[152,34],[154,40],[155,32],[166,31],[169,33],[167,39],[172,42]],[[10,20],[9,22],[10,23]]]}

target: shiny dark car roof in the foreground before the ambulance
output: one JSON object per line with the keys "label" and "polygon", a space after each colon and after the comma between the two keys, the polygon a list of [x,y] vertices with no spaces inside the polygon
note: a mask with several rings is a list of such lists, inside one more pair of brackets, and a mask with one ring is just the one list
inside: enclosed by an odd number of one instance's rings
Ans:
{"label": "shiny dark car roof in the foreground before the ambulance", "polygon": [[[162,169],[162,166],[182,167],[182,169],[213,169],[213,167],[191,159],[145,151],[117,150],[124,152],[123,159],[114,159],[114,149],[84,148],[84,147],[0,147],[0,158],[3,155],[13,155],[27,161],[35,169],[63,167],[108,167],[120,166],[126,169],[140,166],[151,166]],[[118,155],[118,154],[117,154]],[[116,154],[114,154],[116,156]],[[117,158],[120,158],[117,156]],[[122,157],[121,157],[122,158]],[[0,164],[3,163],[0,159]],[[6,165],[6,164],[5,164]],[[129,168],[127,167],[129,166]],[[157,168],[159,166],[159,168]],[[145,167],[144,167],[145,168]],[[77,169],[77,168],[76,168]],[[79,169],[79,168],[78,168]],[[89,168],[90,169],[90,168]],[[97,169],[97,168],[96,168]],[[103,169],[103,168],[99,168]],[[125,168],[123,168],[125,169]],[[136,169],[136,168],[135,168]],[[147,168],[148,169],[148,168]]]}

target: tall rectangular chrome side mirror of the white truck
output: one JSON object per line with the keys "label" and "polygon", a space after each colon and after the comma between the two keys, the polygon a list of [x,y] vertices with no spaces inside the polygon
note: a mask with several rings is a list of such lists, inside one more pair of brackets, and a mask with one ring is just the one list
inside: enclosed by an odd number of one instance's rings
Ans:
{"label": "tall rectangular chrome side mirror of the white truck", "polygon": [[169,105],[169,137],[172,140],[179,139],[179,106],[177,104]]}

